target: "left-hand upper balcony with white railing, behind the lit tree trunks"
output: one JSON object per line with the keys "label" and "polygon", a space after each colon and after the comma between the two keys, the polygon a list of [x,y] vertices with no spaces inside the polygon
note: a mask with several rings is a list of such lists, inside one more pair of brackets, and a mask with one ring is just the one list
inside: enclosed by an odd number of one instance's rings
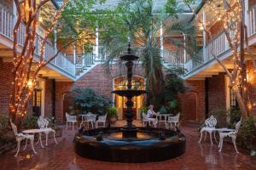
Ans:
{"label": "left-hand upper balcony with white railing, behind the lit tree trunks", "polygon": [[[9,54],[5,53],[3,57],[9,57],[9,61],[12,59],[11,49],[13,48],[13,27],[15,24],[15,15],[9,10],[9,8],[4,7],[0,3],[0,44],[4,46],[4,48],[9,48]],[[25,42],[25,25],[21,24],[20,29],[18,30],[18,44],[20,48],[18,48],[18,52],[22,45]],[[38,61],[39,50],[40,50],[40,33],[36,36],[35,40],[35,61]],[[50,57],[55,55],[54,45],[48,41],[45,44],[44,48],[44,59],[49,59]],[[71,62],[64,54],[58,54],[58,56],[50,62],[47,67],[50,70],[57,71],[62,76],[67,77],[67,79],[74,80],[75,79],[75,66],[73,62]]]}

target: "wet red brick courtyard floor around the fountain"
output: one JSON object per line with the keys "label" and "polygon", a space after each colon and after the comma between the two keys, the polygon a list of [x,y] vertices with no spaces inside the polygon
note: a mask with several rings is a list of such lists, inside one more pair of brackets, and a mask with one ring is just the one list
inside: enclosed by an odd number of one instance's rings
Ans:
{"label": "wet red brick courtyard floor around the fountain", "polygon": [[[138,123],[137,123],[138,124]],[[59,144],[49,141],[49,146],[41,149],[36,146],[38,155],[31,154],[31,150],[21,150],[15,157],[15,150],[0,156],[0,169],[86,169],[86,170],[143,170],[143,169],[256,169],[256,157],[248,156],[248,151],[238,148],[236,154],[231,144],[224,143],[222,153],[218,152],[218,144],[209,144],[209,141],[198,144],[197,126],[185,123],[181,126],[187,138],[187,151],[183,156],[169,161],[125,164],[94,161],[77,156],[73,152],[74,131],[63,128],[63,136],[58,138]]]}

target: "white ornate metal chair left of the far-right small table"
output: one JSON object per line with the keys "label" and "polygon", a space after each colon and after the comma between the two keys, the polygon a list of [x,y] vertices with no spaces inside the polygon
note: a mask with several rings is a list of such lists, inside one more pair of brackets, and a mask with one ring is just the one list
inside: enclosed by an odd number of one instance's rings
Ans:
{"label": "white ornate metal chair left of the far-right small table", "polygon": [[205,121],[206,127],[202,127],[201,128],[201,137],[200,140],[198,141],[198,143],[201,143],[201,139],[202,139],[202,134],[205,132],[205,140],[207,139],[207,133],[210,134],[210,140],[211,140],[211,144],[212,144],[212,133],[214,134],[214,139],[217,142],[216,136],[215,136],[215,126],[217,124],[217,119],[214,116],[210,116],[209,118],[207,118],[207,120]]}

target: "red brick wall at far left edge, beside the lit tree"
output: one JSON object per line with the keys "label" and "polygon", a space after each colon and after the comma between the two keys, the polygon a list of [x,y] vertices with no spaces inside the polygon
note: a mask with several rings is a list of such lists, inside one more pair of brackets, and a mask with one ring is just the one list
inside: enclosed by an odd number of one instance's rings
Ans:
{"label": "red brick wall at far left edge, beside the lit tree", "polygon": [[13,81],[13,63],[3,63],[0,59],[0,113],[8,113],[10,88]]}

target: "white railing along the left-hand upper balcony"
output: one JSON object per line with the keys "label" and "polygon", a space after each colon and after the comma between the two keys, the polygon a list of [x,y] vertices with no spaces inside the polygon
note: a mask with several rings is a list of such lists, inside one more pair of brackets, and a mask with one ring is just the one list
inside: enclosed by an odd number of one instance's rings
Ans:
{"label": "white railing along the left-hand upper balcony", "polygon": [[[10,12],[10,10],[6,7],[4,7],[0,3],[0,34],[3,37],[8,38],[9,40],[13,41],[13,30],[14,30],[14,21],[15,21],[15,15]],[[20,25],[20,28],[18,30],[18,44],[22,46],[25,42],[25,31],[26,26],[24,24]],[[40,37],[37,35],[35,40],[35,54],[38,56],[39,50],[40,50]],[[50,57],[55,55],[55,48],[53,44],[50,44],[50,42],[46,42],[44,47],[44,59],[49,59]],[[75,67],[71,61],[67,59],[67,57],[63,54],[58,54],[56,58],[51,61],[51,64],[55,65],[59,70],[64,71],[71,77],[75,77]]]}

